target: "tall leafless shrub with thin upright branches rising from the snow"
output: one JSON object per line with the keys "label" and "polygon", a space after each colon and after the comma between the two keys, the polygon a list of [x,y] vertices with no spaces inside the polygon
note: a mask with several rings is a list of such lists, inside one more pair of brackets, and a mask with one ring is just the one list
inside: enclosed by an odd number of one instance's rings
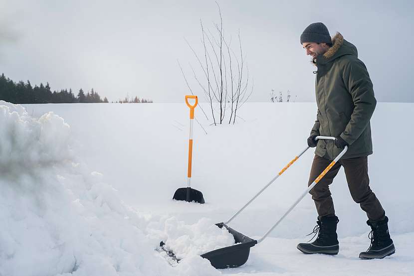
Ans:
{"label": "tall leafless shrub with thin upright branches rising from the snow", "polygon": [[[221,9],[217,2],[216,4],[220,22],[213,23],[213,31],[206,30],[203,21],[200,20],[203,58],[200,58],[201,55],[187,40],[186,42],[201,69],[202,78],[199,78],[190,64],[194,79],[204,92],[205,99],[209,104],[213,124],[223,124],[223,122],[234,124],[237,111],[253,93],[253,82],[250,84],[249,81],[248,67],[241,47],[240,31],[237,33],[238,51],[235,53],[231,48],[231,37],[230,39],[225,38]],[[188,88],[194,95],[180,63],[179,66]],[[203,113],[208,119],[204,110]],[[226,116],[229,117],[228,120],[225,120]]]}

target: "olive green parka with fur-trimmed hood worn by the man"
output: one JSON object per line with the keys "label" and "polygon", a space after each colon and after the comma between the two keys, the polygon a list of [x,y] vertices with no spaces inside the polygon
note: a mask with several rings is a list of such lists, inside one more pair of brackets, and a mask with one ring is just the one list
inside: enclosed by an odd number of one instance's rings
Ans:
{"label": "olive green parka with fur-trimmed hood worn by the man", "polygon": [[[377,104],[373,84],[357,48],[340,33],[332,43],[313,59],[318,113],[310,135],[343,138],[349,147],[342,158],[367,156],[373,152],[370,119]],[[315,154],[333,160],[341,151],[333,140],[319,140]]]}

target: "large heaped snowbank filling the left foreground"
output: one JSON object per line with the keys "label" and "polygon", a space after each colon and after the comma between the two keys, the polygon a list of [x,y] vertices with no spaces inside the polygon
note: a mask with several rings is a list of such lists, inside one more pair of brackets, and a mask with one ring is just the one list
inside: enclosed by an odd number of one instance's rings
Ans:
{"label": "large heaped snowbank filling the left foreground", "polygon": [[62,118],[0,102],[0,125],[0,275],[216,274],[196,256],[168,265],[149,219],[71,156]]}

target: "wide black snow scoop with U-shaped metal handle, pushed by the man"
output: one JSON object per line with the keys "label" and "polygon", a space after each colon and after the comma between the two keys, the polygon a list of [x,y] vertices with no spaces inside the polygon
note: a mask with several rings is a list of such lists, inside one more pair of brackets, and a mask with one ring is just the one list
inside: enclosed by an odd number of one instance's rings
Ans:
{"label": "wide black snow scoop with U-shaped metal handle, pushed by the man", "polygon": [[[328,137],[328,136],[318,136],[315,138],[315,140],[318,139],[330,139],[335,140],[335,137]],[[226,269],[226,268],[237,268],[243,264],[246,263],[250,248],[255,246],[256,244],[261,243],[273,230],[276,228],[276,226],[279,225],[279,223],[295,208],[295,206],[308,194],[308,192],[324,177],[324,175],[332,168],[332,166],[338,162],[338,160],[345,154],[345,152],[348,150],[348,146],[345,146],[345,148],[341,151],[341,153],[326,167],[326,169],[313,181],[313,183],[301,194],[301,196],[289,207],[289,209],[283,214],[283,216],[280,217],[280,219],[260,238],[257,240],[251,239],[234,229],[228,227],[228,224],[241,213],[241,211],[244,210],[253,200],[255,200],[267,187],[270,186],[283,172],[285,172],[299,157],[305,153],[306,150],[309,149],[309,146],[306,147],[304,150],[300,152],[299,155],[295,156],[294,159],[292,159],[270,182],[264,186],[253,198],[251,198],[240,210],[238,210],[230,219],[228,219],[225,223],[217,223],[216,225],[219,228],[225,227],[230,234],[233,235],[235,244],[232,246],[223,247],[220,249],[216,249],[210,252],[207,252],[201,257],[207,259],[210,261],[211,266],[213,266],[216,269]],[[160,246],[162,249],[167,251],[164,248],[164,243],[161,242]],[[175,258],[175,255],[171,251],[167,251],[167,253],[170,255],[170,257]],[[177,260],[177,258],[175,258]],[[180,260],[177,260],[180,261]]]}

